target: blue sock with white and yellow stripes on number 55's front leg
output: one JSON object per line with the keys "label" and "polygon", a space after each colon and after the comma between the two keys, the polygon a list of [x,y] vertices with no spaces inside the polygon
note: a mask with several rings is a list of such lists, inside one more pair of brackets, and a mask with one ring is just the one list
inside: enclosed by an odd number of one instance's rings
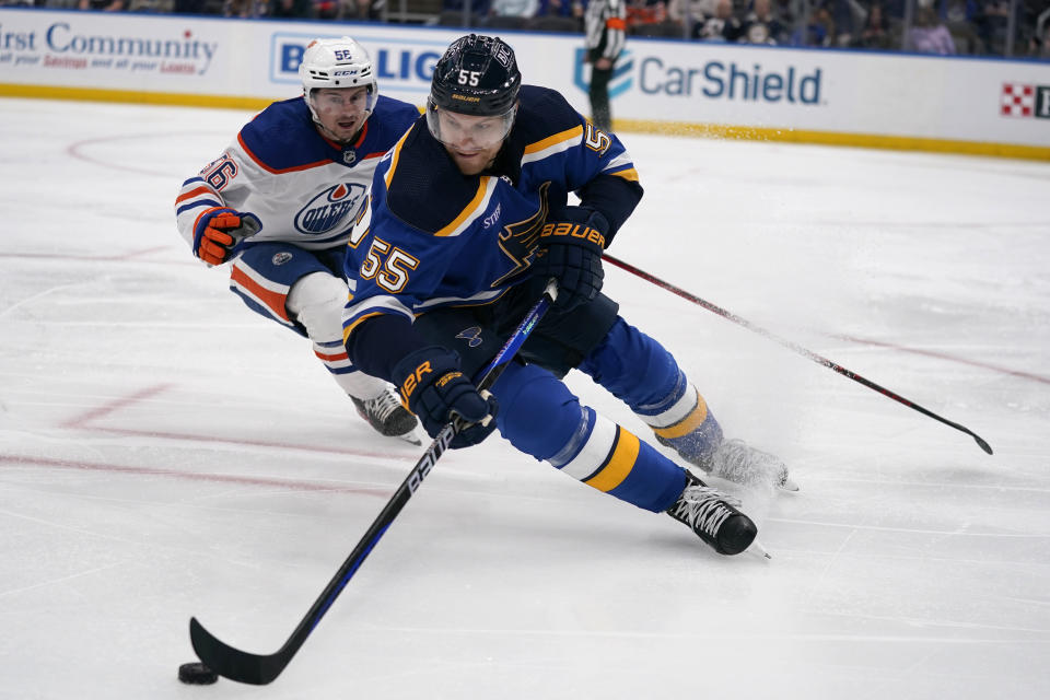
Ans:
{"label": "blue sock with white and yellow stripes on number 55's front leg", "polygon": [[686,486],[681,467],[581,406],[545,370],[511,365],[492,393],[500,402],[497,425],[512,445],[587,486],[657,513],[670,508]]}

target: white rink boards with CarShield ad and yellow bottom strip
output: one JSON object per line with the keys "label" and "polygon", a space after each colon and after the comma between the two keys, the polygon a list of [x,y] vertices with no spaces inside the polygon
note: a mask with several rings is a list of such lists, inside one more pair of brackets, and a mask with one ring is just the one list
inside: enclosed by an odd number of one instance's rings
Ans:
{"label": "white rink boards with CarShield ad and yellow bottom strip", "polygon": [[[313,37],[350,34],[421,105],[458,28],[0,10],[0,94],[262,107],[299,93]],[[588,113],[582,36],[501,32],[526,82]],[[632,37],[618,128],[1050,160],[1050,63]]]}

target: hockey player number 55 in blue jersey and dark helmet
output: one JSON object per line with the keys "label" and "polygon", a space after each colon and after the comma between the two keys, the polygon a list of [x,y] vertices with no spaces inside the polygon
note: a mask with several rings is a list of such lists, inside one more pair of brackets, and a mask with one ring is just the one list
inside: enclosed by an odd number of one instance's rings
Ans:
{"label": "hockey player number 55 in blue jersey and dark helmet", "polygon": [[[736,555],[757,533],[737,502],[561,382],[573,369],[588,374],[705,471],[786,479],[771,455],[724,441],[670,353],[600,293],[602,252],[641,197],[620,141],[559,93],[522,85],[510,46],[489,36],[456,40],[434,69],[427,114],[376,168],[351,236],[348,354],[397,385],[430,435],[454,416],[471,423],[453,447],[498,427],[517,450],[669,513],[716,551]],[[483,396],[470,377],[550,278],[552,310]],[[486,424],[488,416],[495,420]]]}

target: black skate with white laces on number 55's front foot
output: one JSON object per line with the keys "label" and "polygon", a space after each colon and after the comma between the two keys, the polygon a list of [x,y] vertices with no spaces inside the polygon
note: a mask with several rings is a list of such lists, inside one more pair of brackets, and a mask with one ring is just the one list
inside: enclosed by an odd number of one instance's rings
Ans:
{"label": "black skate with white laces on number 55's front foot", "polygon": [[755,541],[758,528],[737,509],[740,502],[687,472],[686,488],[667,509],[720,555],[738,555]]}

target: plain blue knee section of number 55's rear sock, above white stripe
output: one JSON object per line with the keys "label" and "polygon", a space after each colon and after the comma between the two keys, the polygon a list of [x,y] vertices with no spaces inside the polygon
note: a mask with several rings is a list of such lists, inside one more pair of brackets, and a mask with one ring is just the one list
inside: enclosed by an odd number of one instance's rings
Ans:
{"label": "plain blue knee section of number 55's rear sock, above white stripe", "polygon": [[622,318],[580,364],[580,370],[638,412],[674,392],[680,370],[666,349]]}

